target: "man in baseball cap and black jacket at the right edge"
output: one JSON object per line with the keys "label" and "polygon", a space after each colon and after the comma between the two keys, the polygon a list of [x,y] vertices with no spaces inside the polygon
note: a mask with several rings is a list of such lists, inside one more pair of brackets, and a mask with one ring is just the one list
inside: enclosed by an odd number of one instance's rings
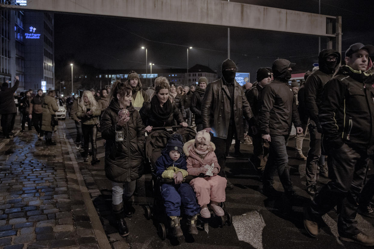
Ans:
{"label": "man in baseball cap and black jacket at the right edge", "polygon": [[315,237],[321,216],[337,206],[339,239],[364,246],[374,246],[374,238],[362,233],[356,220],[358,196],[374,154],[374,77],[365,73],[369,55],[374,46],[352,44],[346,65],[324,86],[318,117],[331,181],[304,213],[304,226]]}

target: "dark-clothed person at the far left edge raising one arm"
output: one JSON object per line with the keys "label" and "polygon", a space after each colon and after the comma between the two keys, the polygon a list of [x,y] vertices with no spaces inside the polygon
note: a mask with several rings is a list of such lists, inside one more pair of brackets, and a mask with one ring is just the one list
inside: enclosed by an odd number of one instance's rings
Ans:
{"label": "dark-clothed person at the far left edge raising one arm", "polygon": [[0,91],[0,114],[1,114],[1,127],[5,138],[10,138],[10,132],[16,118],[17,108],[14,102],[14,92],[19,85],[19,77],[15,77],[16,82],[13,87],[9,87],[7,82],[1,85]]}

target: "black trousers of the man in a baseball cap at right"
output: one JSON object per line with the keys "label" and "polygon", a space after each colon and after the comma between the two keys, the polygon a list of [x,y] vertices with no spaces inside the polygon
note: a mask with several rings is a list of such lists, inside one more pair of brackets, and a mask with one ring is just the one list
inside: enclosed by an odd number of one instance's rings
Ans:
{"label": "black trousers of the man in a baseball cap at right", "polygon": [[307,218],[316,221],[336,205],[340,211],[339,235],[356,235],[359,233],[356,221],[358,196],[366,176],[369,156],[366,151],[347,144],[331,148],[328,154],[331,181],[321,189],[307,209]]}

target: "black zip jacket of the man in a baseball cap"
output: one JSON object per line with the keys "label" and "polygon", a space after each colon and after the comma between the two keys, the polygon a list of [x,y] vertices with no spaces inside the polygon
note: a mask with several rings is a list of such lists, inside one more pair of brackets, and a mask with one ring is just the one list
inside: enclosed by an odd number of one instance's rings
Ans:
{"label": "black zip jacket of the man in a baseball cap", "polygon": [[319,108],[325,150],[346,143],[373,155],[373,83],[373,75],[341,66],[325,84]]}

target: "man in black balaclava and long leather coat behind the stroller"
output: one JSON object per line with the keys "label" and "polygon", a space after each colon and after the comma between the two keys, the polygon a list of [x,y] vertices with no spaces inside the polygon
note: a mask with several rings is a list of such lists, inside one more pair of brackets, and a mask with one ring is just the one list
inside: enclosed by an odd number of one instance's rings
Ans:
{"label": "man in black balaclava and long leather coat behind the stroller", "polygon": [[[222,63],[222,78],[210,83],[205,90],[201,106],[203,128],[214,136],[215,154],[221,170],[218,175],[226,177],[226,155],[233,140],[244,140],[243,115],[249,121],[253,114],[244,90],[235,80],[236,65],[226,59]],[[227,180],[227,189],[234,185]]]}

